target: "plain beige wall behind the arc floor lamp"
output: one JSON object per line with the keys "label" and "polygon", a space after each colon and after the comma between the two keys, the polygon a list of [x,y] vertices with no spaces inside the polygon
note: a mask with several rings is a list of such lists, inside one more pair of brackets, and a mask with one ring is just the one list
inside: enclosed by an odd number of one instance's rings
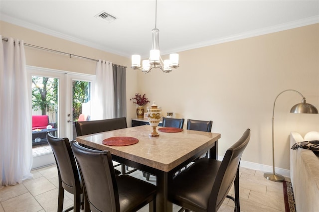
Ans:
{"label": "plain beige wall behind the arc floor lamp", "polygon": [[[220,156],[250,128],[242,160],[271,168],[276,96],[295,89],[319,109],[318,38],[319,24],[314,24],[179,52],[180,67],[172,73],[139,72],[139,92],[156,101],[162,114],[172,111],[185,122],[213,120],[212,131],[221,133]],[[290,166],[290,132],[319,131],[318,114],[289,112],[301,100],[299,94],[286,92],[276,103],[275,166],[282,169]]]}

